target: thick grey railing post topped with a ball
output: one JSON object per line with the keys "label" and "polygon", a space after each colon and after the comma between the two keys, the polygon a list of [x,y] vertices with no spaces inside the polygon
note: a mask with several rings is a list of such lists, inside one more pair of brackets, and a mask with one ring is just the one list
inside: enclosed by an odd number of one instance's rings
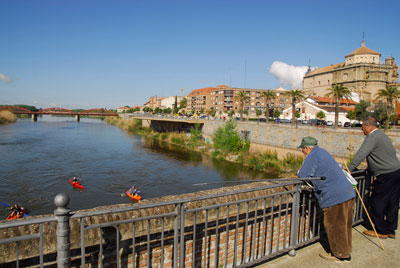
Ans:
{"label": "thick grey railing post topped with a ball", "polygon": [[71,265],[71,259],[69,255],[69,212],[71,210],[67,208],[69,204],[69,196],[66,193],[56,195],[54,198],[54,204],[57,207],[57,209],[54,210],[54,215],[57,218],[57,267],[69,268]]}

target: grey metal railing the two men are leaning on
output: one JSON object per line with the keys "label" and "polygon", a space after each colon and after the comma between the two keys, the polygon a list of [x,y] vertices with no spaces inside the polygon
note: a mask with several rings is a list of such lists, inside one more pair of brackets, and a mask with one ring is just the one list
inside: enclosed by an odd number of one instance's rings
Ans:
{"label": "grey metal railing the two men are leaning on", "polygon": [[[363,171],[353,176],[364,199],[370,177]],[[73,215],[68,202],[60,194],[55,216],[0,223],[0,258],[13,253],[0,267],[245,267],[286,252],[295,255],[296,248],[319,239],[322,226],[314,195],[302,181],[276,180],[256,188]],[[356,199],[353,222],[362,220]],[[21,257],[20,247],[38,252]]]}

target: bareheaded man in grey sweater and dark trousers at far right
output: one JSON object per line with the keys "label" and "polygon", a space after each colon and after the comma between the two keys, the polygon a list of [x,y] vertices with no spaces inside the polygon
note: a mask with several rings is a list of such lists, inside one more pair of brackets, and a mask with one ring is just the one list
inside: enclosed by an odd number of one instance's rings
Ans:
{"label": "bareheaded man in grey sweater and dark trousers at far right", "polygon": [[[363,122],[363,144],[357,151],[349,169],[354,170],[364,159],[375,175],[372,195],[369,199],[370,215],[380,238],[395,238],[399,216],[400,161],[389,137],[377,128],[374,118]],[[364,234],[376,236],[372,230]]]}

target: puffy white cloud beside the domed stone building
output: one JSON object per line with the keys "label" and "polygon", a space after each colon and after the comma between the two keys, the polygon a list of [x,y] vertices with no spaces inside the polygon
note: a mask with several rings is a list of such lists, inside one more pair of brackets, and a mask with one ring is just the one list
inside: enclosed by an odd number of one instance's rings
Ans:
{"label": "puffy white cloud beside the domed stone building", "polygon": [[281,61],[274,61],[271,64],[270,73],[279,81],[290,88],[301,88],[304,74],[308,66],[294,66]]}

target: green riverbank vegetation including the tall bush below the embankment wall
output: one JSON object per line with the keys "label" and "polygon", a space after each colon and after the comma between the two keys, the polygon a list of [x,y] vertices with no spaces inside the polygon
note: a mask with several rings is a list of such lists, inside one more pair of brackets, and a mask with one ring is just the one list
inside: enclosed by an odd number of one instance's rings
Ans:
{"label": "green riverbank vegetation including the tall bush below the embankment wall", "polygon": [[303,163],[303,157],[287,154],[283,159],[278,158],[276,151],[266,151],[262,154],[250,153],[249,140],[242,140],[236,129],[236,123],[228,120],[223,127],[216,129],[212,136],[212,143],[206,142],[201,136],[199,126],[195,126],[187,133],[159,133],[151,128],[142,127],[140,119],[123,119],[108,117],[105,121],[109,124],[133,134],[146,138],[168,142],[181,146],[187,150],[198,151],[218,160],[236,162],[249,168],[273,173],[279,176],[295,176]]}

